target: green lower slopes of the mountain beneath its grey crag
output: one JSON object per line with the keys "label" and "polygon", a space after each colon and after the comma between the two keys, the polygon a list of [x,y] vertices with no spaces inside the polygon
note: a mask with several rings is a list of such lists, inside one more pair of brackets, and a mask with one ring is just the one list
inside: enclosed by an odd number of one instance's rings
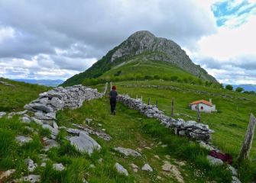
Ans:
{"label": "green lower slopes of the mountain beneath its grey crag", "polygon": [[[208,80],[201,79],[200,77],[186,72],[173,63],[147,58],[147,56],[151,56],[151,54],[157,55],[157,53],[141,53],[136,56],[123,56],[116,59],[114,62],[110,62],[112,51],[91,68],[67,79],[62,85],[67,86],[81,83],[83,85],[96,85],[110,81],[147,79],[164,79],[198,84],[209,82]],[[203,73],[203,75],[206,75],[206,73]]]}

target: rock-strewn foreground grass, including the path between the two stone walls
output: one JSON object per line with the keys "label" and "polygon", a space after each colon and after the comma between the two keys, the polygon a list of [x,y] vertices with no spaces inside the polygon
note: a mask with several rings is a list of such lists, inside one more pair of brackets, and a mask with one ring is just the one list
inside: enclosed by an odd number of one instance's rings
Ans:
{"label": "rock-strewn foreground grass, including the path between the two stone walls", "polygon": [[[74,124],[85,125],[85,119],[91,118],[89,125],[94,129],[102,130],[112,136],[109,142],[92,136],[102,146],[100,152],[92,156],[81,154],[70,146],[66,140],[66,132],[61,130],[57,136],[60,148],[42,151],[42,138],[49,136],[47,130],[37,124],[22,124],[18,117],[0,119],[0,172],[6,169],[16,169],[15,174],[5,181],[28,175],[29,172],[24,159],[30,157],[41,165],[41,154],[45,153],[49,160],[46,167],[38,166],[35,175],[41,175],[41,182],[228,182],[231,175],[225,166],[209,166],[206,160],[206,150],[200,149],[197,143],[175,136],[170,130],[162,127],[157,120],[148,119],[138,111],[133,111],[122,104],[118,104],[117,115],[109,113],[109,99],[85,101],[82,108],[76,110],[59,111],[57,124],[73,127]],[[100,124],[100,125],[99,125]],[[31,127],[35,131],[28,130]],[[31,136],[31,143],[19,146],[15,136]],[[114,147],[136,149],[141,152],[140,158],[123,156],[115,152]],[[53,170],[52,164],[62,162],[66,169],[63,172]],[[128,169],[129,176],[125,177],[116,172],[115,162]],[[162,165],[170,163],[175,173],[164,172]],[[133,172],[131,163],[138,165],[138,172]],[[141,167],[149,163],[153,172],[144,172]]]}

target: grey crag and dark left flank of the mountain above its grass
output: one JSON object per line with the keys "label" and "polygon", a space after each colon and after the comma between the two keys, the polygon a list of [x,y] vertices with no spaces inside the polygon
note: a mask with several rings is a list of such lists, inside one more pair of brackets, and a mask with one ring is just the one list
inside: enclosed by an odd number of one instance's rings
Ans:
{"label": "grey crag and dark left flank of the mountain above its grass", "polygon": [[[141,30],[131,34],[127,40],[110,50],[102,59],[99,59],[98,62],[93,64],[85,72],[81,72],[67,79],[63,82],[63,85],[76,85],[82,83],[83,79],[97,78],[111,70],[114,66],[123,63],[129,57],[141,55],[143,55],[142,59],[172,63],[199,79],[218,83],[206,70],[194,64],[190,57],[186,55],[186,52],[177,43],[173,42],[173,40],[155,37],[151,32]],[[160,70],[157,72],[160,72]]]}

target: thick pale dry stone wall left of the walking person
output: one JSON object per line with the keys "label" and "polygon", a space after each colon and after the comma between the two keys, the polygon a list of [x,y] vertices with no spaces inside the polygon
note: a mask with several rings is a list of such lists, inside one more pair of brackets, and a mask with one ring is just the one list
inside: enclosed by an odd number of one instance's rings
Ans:
{"label": "thick pale dry stone wall left of the walking person", "polygon": [[79,108],[83,105],[83,101],[102,98],[104,95],[104,92],[99,93],[97,89],[87,88],[83,85],[53,88],[48,92],[41,93],[39,98],[24,106],[32,115],[24,114],[22,120],[27,122],[32,120],[41,124],[42,127],[51,131],[54,139],[59,132],[55,122],[57,111],[63,108]]}

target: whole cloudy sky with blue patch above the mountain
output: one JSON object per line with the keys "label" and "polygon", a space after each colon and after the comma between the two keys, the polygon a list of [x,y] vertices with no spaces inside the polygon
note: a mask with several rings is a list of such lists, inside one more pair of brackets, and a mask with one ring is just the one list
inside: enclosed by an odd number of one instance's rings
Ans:
{"label": "whole cloudy sky with blue patch above the mountain", "polygon": [[219,82],[256,84],[256,0],[0,0],[0,76],[67,79],[138,30]]}

